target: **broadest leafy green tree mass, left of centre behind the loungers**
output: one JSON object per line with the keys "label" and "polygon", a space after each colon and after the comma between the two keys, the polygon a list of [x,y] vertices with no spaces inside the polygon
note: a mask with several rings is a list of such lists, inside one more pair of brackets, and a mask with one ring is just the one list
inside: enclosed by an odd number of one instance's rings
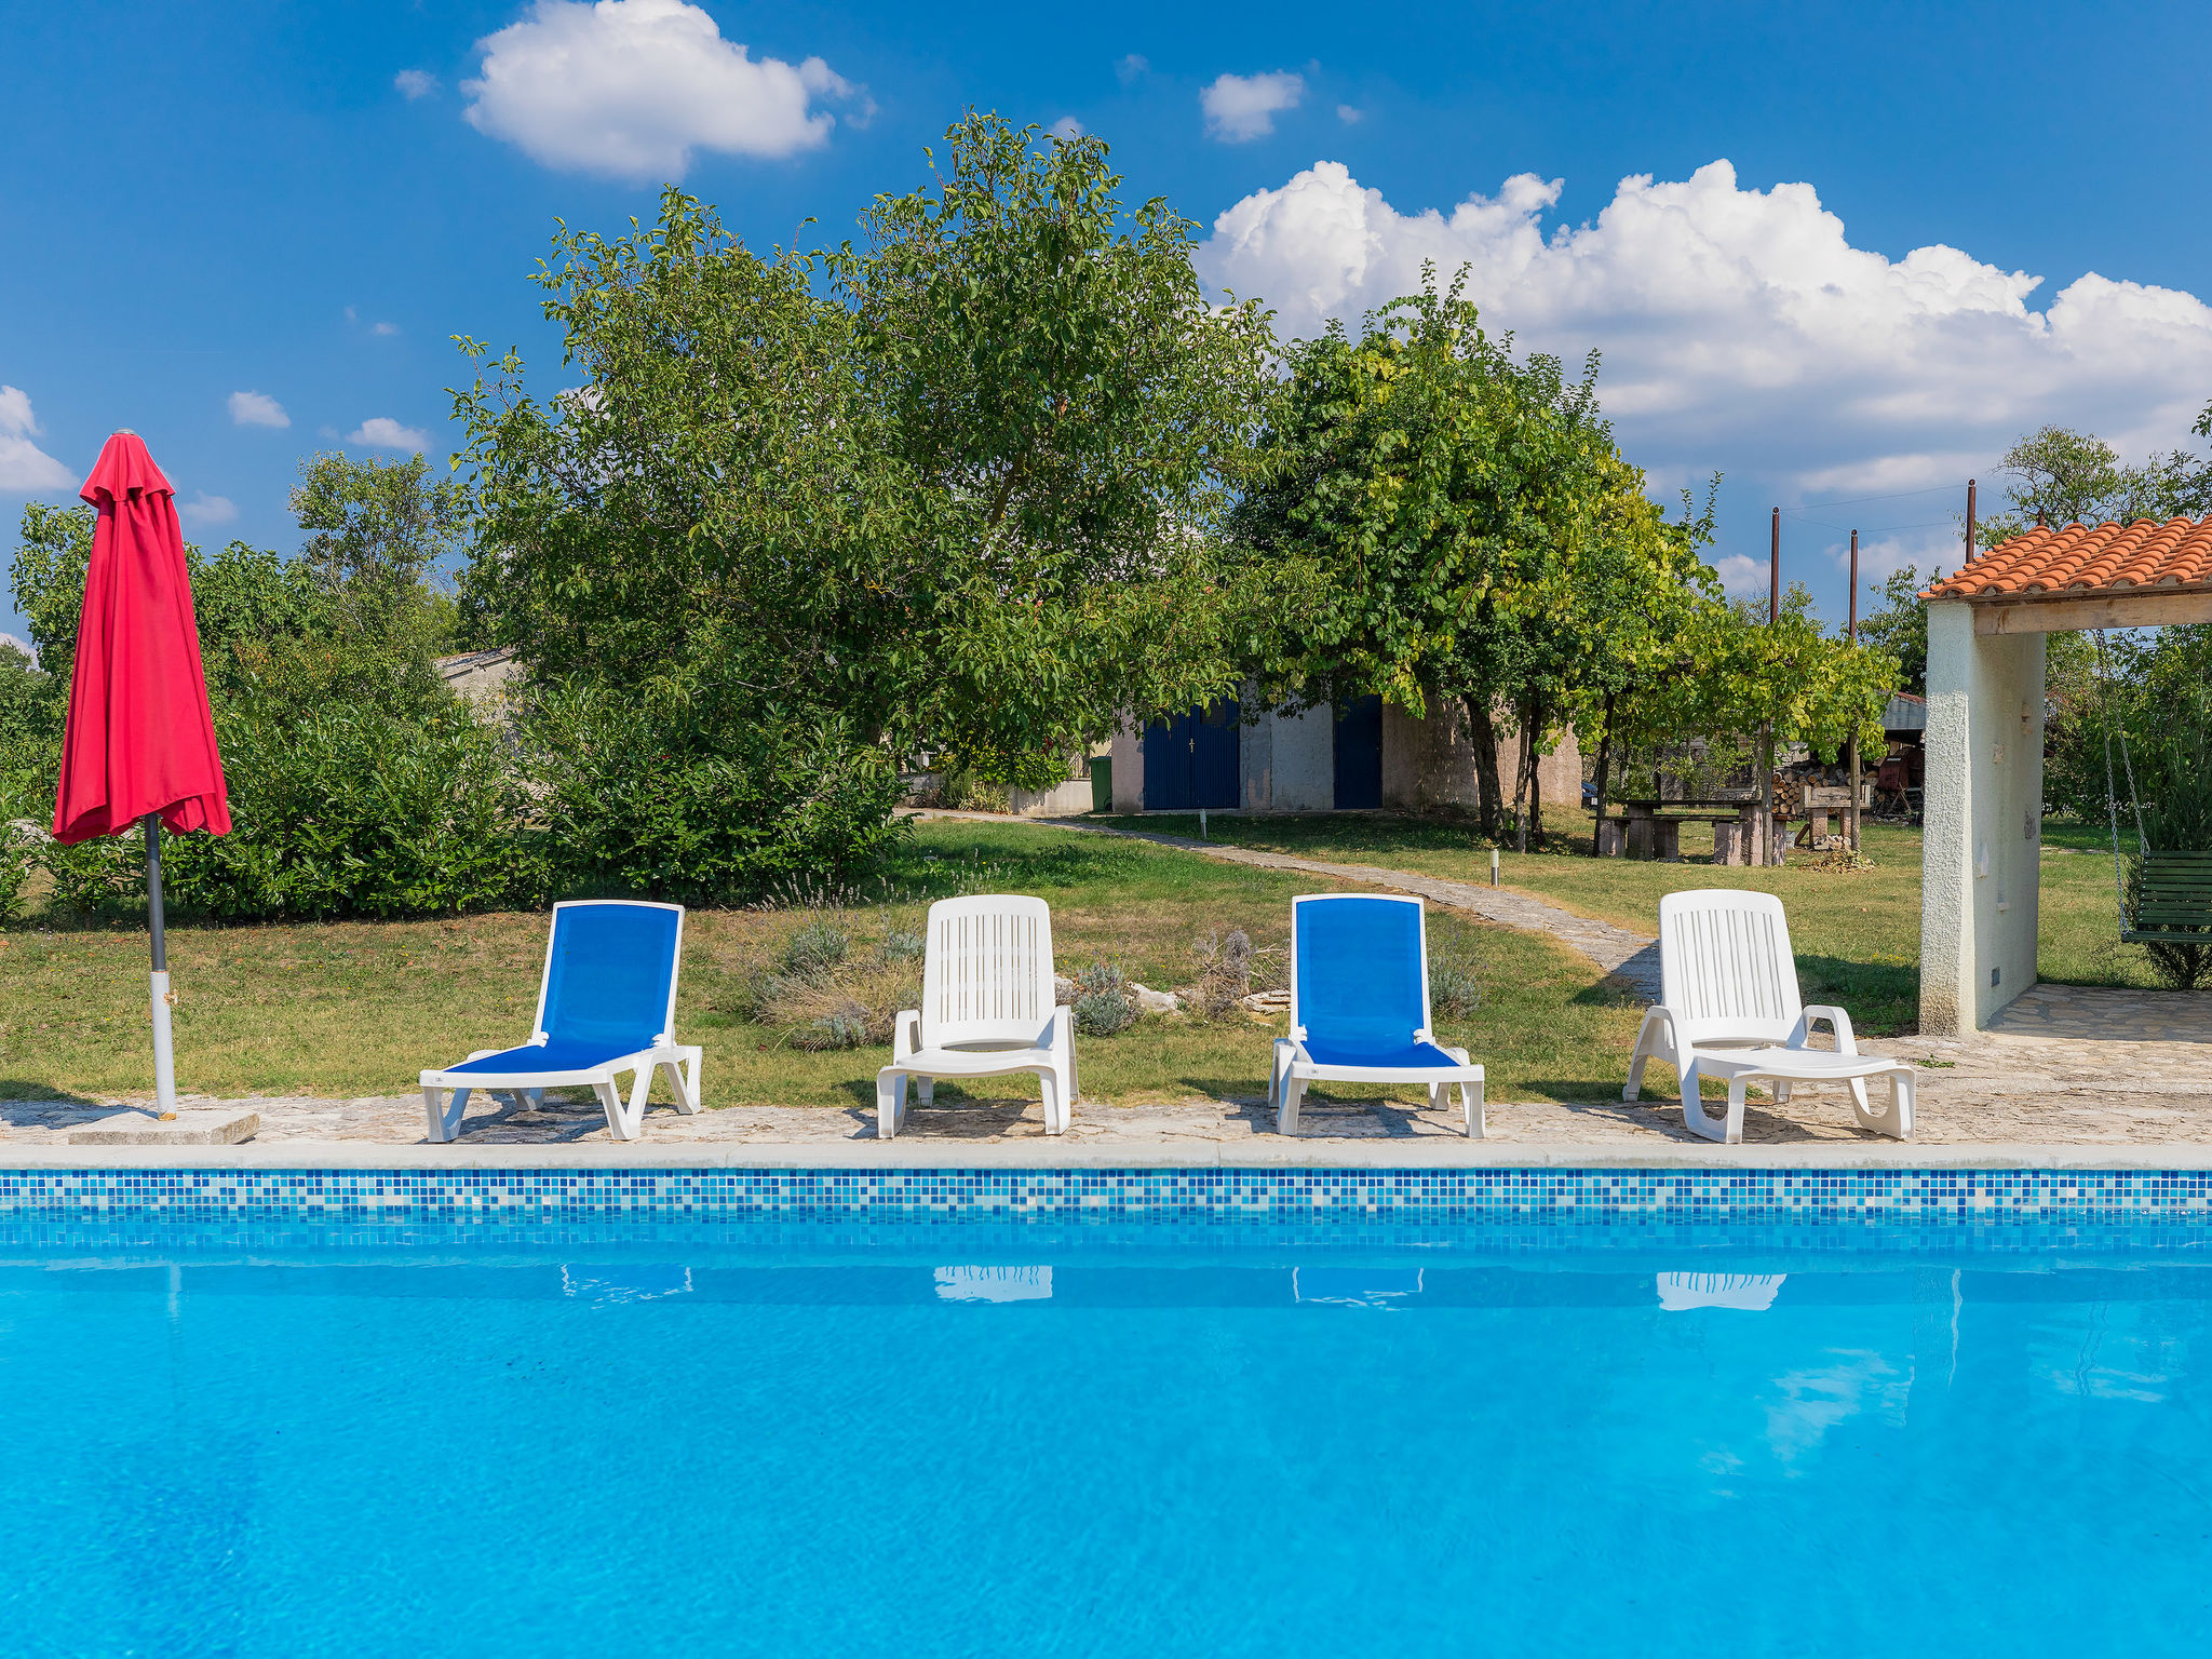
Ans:
{"label": "broadest leafy green tree mass, left of centre behind the loungers", "polygon": [[982,115],[949,139],[933,188],[823,257],[754,254],[677,190],[628,237],[562,228],[538,281],[571,394],[465,343],[467,604],[540,686],[619,695],[677,761],[743,759],[759,787],[688,796],[728,816],[701,834],[838,745],[883,779],[916,750],[1066,776],[1126,714],[1228,690],[1265,615],[1219,535],[1265,316],[1208,305],[1194,226],[1124,210],[1095,139]]}

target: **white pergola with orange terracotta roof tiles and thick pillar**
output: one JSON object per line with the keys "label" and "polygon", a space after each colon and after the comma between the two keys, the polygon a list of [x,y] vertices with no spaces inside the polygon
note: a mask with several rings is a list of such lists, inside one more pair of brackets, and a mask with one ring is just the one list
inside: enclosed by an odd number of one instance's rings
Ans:
{"label": "white pergola with orange terracotta roof tiles and thick pillar", "polygon": [[2212,622],[2212,518],[2037,526],[1920,597],[1920,1029],[1953,1035],[2035,984],[2044,635]]}

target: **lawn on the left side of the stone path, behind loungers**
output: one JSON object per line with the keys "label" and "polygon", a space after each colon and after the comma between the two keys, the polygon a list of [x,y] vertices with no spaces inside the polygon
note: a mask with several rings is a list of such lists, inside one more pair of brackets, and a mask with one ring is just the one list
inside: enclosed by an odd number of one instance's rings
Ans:
{"label": "lawn on the left side of the stone path, behind loungers", "polygon": [[[931,894],[1026,891],[1053,905],[1062,971],[1119,962],[1170,989],[1192,978],[1192,945],[1245,929],[1283,945],[1290,896],[1312,876],[1239,869],[1141,843],[1033,825],[929,823],[896,874],[900,902],[838,916],[856,940],[914,929]],[[748,1024],[743,987],[776,960],[805,911],[692,911],[679,1035],[706,1046],[706,1099],[874,1102],[887,1048],[805,1053]],[[325,927],[173,927],[177,1084],[188,1093],[394,1095],[422,1066],[529,1033],[544,916]],[[1573,951],[1511,929],[1431,914],[1431,951],[1473,962],[1484,1002],[1440,1020],[1489,1066],[1502,1097],[1597,1097],[1619,1088],[1637,1013]],[[1274,1026],[1237,1015],[1146,1018],[1082,1037],[1095,1099],[1263,1095]],[[0,1099],[142,1095],[150,1088],[146,936],[139,929],[0,929]],[[1033,1093],[1011,1079],[995,1095]],[[1343,1095],[1360,1091],[1345,1088]],[[1369,1091],[1371,1093],[1371,1091]]]}

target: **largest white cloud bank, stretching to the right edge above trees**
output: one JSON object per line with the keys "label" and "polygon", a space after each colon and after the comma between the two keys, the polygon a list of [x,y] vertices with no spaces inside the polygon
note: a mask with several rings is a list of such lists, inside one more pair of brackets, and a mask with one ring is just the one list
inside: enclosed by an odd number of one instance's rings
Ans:
{"label": "largest white cloud bank, stretching to the right edge above trees", "polygon": [[[1595,219],[1551,228],[1562,186],[1524,173],[1449,212],[1400,212],[1321,161],[1223,212],[1201,270],[1274,305],[1281,332],[1312,334],[1418,290],[1425,259],[1444,281],[1467,265],[1484,323],[1522,349],[1571,365],[1604,352],[1604,407],[1655,482],[1721,469],[1785,504],[1978,471],[1989,511],[2015,436],[2055,420],[2139,456],[2185,440],[2212,392],[2212,307],[2194,294],[2090,272],[2035,310],[2039,276],[1940,243],[1902,259],[1854,248],[1809,184],[1747,190],[1728,161],[1621,179]],[[1896,529],[1885,557],[1936,557],[1958,546],[1940,520],[1962,507],[1927,495],[1843,522]],[[1785,555],[1832,535],[1785,524]],[[1765,560],[1743,562],[1763,586]]]}

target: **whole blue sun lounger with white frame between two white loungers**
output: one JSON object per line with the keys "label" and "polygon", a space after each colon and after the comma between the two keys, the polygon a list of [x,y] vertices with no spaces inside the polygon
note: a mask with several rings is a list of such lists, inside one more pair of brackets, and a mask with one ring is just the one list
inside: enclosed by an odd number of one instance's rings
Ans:
{"label": "whole blue sun lounger with white frame between two white loungers", "polygon": [[1418,898],[1305,894],[1290,900],[1290,1035],[1274,1042],[1267,1104],[1298,1133],[1310,1082],[1422,1084],[1442,1108],[1460,1086],[1482,1135],[1482,1066],[1429,1031],[1429,933]]}

